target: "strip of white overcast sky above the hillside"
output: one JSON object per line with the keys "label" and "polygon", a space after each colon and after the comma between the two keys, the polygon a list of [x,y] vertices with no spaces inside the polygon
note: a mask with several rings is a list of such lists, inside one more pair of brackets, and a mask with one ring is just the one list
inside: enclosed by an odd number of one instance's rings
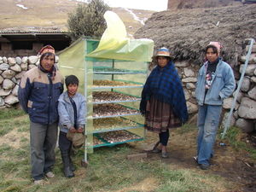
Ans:
{"label": "strip of white overcast sky above the hillside", "polygon": [[104,0],[110,7],[162,11],[167,9],[168,0]]}

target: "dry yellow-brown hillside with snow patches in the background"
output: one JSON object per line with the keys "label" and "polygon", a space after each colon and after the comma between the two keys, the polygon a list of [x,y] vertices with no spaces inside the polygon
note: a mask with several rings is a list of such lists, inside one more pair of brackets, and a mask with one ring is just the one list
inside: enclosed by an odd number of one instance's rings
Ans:
{"label": "dry yellow-brown hillside with snow patches in the background", "polygon": [[[1,1],[0,31],[67,31],[67,13],[79,3],[71,0],[4,0]],[[113,8],[124,21],[129,34],[143,24],[154,11],[131,9],[138,20],[125,9]]]}

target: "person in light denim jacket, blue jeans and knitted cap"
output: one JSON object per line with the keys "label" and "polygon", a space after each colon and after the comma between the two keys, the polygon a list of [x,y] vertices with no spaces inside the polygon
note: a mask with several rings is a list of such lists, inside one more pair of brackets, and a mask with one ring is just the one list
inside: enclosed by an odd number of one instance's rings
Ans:
{"label": "person in light denim jacket, blue jeans and knitted cap", "polygon": [[202,170],[210,167],[212,148],[218,129],[224,98],[235,90],[236,81],[230,65],[219,57],[220,44],[211,42],[206,48],[207,62],[201,67],[195,89],[198,111],[197,163]]}

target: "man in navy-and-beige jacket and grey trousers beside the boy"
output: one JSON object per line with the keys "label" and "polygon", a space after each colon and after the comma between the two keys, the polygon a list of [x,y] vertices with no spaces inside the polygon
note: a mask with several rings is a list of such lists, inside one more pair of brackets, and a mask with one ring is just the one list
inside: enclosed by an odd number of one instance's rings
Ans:
{"label": "man in navy-and-beige jacket and grey trousers beside the boy", "polygon": [[40,63],[22,77],[18,91],[20,105],[29,114],[32,178],[44,183],[55,164],[58,127],[58,98],[63,78],[55,68],[55,49],[47,45],[39,51]]}

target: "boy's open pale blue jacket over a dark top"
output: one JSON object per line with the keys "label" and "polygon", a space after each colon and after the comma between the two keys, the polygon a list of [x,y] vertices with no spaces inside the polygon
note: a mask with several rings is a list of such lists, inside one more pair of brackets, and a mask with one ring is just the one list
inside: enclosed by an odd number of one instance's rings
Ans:
{"label": "boy's open pale blue jacket over a dark top", "polygon": [[[85,115],[86,115],[86,102],[83,95],[76,93],[72,97],[73,101],[76,103],[77,106],[77,114],[78,119],[77,123],[79,127],[84,128],[85,125]],[[61,131],[67,132],[68,129],[72,128],[74,126],[74,111],[73,111],[73,105],[70,102],[70,99],[67,95],[67,91],[61,94],[59,98],[59,104],[58,104],[58,112],[59,112],[59,127]]]}

